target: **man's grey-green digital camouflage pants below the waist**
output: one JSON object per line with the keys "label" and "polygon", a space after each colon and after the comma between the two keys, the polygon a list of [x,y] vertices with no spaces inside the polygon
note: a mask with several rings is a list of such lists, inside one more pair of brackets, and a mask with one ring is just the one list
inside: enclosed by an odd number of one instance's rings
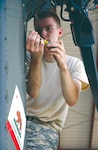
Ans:
{"label": "man's grey-green digital camouflage pants below the waist", "polygon": [[58,141],[55,129],[27,121],[26,150],[57,150]]}

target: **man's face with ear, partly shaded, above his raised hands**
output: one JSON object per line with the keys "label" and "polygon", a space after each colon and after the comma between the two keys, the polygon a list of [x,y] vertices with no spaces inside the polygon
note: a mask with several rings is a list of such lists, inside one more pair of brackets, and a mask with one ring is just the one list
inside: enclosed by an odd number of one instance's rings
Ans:
{"label": "man's face with ear, partly shaded, above his raised hands", "polygon": [[58,27],[52,17],[39,19],[35,22],[35,30],[39,35],[52,42],[57,42],[62,35],[62,29]]}

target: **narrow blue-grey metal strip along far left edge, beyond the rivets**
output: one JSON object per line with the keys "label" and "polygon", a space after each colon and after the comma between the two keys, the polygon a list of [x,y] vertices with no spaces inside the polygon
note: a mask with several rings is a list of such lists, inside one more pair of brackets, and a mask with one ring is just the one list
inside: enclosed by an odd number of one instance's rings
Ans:
{"label": "narrow blue-grey metal strip along far left edge, beyond the rivets", "polygon": [[5,118],[6,118],[6,72],[5,72],[5,0],[0,1],[0,149],[5,150],[6,130],[5,130]]}

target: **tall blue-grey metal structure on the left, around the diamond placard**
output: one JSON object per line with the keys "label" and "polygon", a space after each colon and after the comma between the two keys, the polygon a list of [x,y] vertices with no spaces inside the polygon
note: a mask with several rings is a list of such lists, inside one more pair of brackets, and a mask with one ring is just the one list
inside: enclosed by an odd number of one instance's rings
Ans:
{"label": "tall blue-grey metal structure on the left, around the diamond placard", "polygon": [[0,0],[0,150],[14,150],[6,121],[15,86],[25,107],[25,21],[22,0]]}

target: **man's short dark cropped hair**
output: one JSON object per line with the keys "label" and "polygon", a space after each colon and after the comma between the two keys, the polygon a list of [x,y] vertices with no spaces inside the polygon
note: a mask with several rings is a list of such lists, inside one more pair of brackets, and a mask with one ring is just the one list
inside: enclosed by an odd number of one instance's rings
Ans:
{"label": "man's short dark cropped hair", "polygon": [[47,11],[47,10],[44,10],[44,11],[39,12],[38,14],[35,14],[34,25],[37,20],[45,19],[45,18],[49,18],[49,17],[52,17],[54,19],[54,21],[56,22],[56,24],[58,25],[58,27],[61,27],[61,22],[60,22],[59,17],[57,16],[57,14],[52,11]]}

